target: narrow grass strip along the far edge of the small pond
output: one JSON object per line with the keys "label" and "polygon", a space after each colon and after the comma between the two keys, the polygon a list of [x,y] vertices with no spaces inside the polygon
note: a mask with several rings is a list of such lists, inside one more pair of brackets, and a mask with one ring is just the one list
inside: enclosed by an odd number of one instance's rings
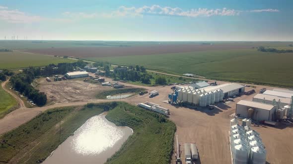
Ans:
{"label": "narrow grass strip along the far edge of the small pond", "polygon": [[111,89],[111,90],[105,90],[102,92],[99,92],[96,95],[97,99],[106,99],[109,95],[117,95],[122,93],[139,93],[142,90],[146,90],[144,88],[119,88],[119,89]]}

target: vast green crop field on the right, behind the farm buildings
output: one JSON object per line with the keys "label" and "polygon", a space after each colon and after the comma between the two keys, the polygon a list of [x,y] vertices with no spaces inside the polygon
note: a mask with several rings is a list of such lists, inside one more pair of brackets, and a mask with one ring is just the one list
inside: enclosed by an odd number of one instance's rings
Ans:
{"label": "vast green crop field on the right, behind the farm buildings", "polygon": [[259,52],[254,48],[88,59],[118,65],[136,63],[177,75],[192,73],[214,80],[293,87],[293,53]]}

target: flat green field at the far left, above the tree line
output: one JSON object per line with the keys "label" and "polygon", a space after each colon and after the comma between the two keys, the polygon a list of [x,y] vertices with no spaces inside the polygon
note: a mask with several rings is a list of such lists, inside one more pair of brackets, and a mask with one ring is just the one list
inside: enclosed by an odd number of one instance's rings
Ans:
{"label": "flat green field at the far left, above the tree line", "polygon": [[61,57],[29,54],[19,51],[0,52],[0,69],[25,68],[29,66],[38,67],[64,62],[73,63],[76,61]]}

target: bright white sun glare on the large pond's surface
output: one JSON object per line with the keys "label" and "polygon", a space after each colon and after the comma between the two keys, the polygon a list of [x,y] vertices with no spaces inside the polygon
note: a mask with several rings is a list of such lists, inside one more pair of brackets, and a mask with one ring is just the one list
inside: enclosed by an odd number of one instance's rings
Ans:
{"label": "bright white sun glare on the large pond's surface", "polygon": [[109,125],[101,116],[94,116],[87,120],[75,134],[71,145],[76,153],[97,155],[113,147],[123,137],[123,130]]}

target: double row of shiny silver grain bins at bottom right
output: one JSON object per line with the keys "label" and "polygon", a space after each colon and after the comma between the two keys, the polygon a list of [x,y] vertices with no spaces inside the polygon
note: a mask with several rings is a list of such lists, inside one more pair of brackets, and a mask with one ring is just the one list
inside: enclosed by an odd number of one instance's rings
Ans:
{"label": "double row of shiny silver grain bins at bottom right", "polygon": [[251,120],[230,121],[230,149],[233,164],[265,164],[266,150],[258,132],[250,129]]}

